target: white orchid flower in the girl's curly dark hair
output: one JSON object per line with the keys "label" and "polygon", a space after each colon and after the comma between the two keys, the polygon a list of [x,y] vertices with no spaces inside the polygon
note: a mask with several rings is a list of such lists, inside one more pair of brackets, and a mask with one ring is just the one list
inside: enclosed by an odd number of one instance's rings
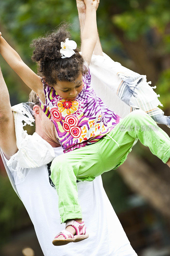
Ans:
{"label": "white orchid flower in the girl's curly dark hair", "polygon": [[66,42],[61,42],[61,49],[60,49],[60,53],[61,53],[61,58],[70,58],[73,54],[75,54],[73,49],[77,48],[77,44],[75,41],[73,40],[68,40],[68,38],[66,38]]}

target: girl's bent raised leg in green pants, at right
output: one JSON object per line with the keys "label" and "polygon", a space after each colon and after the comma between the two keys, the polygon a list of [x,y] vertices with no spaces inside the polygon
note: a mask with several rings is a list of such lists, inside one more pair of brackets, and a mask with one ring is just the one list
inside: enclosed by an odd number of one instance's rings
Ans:
{"label": "girl's bent raised leg in green pants, at right", "polygon": [[[120,164],[124,163],[131,151],[131,143],[135,138],[139,139],[144,146],[149,147],[151,152],[163,163],[168,162],[170,158],[169,136],[146,112],[137,109],[128,114],[110,133],[96,143],[104,162],[105,172],[111,170],[115,163],[115,161],[112,162],[114,158],[117,158],[117,163],[112,169],[117,169]],[[105,143],[106,140],[109,141],[109,145]],[[114,152],[111,149],[113,146],[114,148],[117,147]],[[110,152],[107,151],[107,147],[110,148]],[[107,152],[107,155],[105,152]]]}

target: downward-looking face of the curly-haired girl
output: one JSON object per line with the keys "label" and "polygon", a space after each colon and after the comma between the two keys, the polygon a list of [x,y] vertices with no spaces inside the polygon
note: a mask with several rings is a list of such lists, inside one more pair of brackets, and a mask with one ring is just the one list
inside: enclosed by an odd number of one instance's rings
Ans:
{"label": "downward-looking face of the curly-haired girl", "polygon": [[81,73],[75,81],[58,81],[56,85],[53,85],[53,88],[58,95],[65,100],[75,100],[77,95],[82,91],[83,84],[83,76]]}

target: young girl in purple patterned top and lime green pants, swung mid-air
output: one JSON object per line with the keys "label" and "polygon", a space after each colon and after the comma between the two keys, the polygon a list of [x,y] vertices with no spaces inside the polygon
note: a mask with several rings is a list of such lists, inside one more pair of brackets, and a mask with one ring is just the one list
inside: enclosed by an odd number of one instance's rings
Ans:
{"label": "young girl in purple patterned top and lime green pants, swung mid-air", "polygon": [[[91,89],[89,64],[97,41],[97,0],[84,0],[84,3],[82,55],[76,43],[69,40],[70,34],[65,27],[33,41],[32,59],[38,63],[43,79],[0,37],[2,56],[37,93],[66,153],[56,157],[51,164],[60,220],[66,222],[66,230],[54,238],[54,245],[79,242],[89,236],[82,222],[76,180],[92,181],[103,172],[117,169],[126,160],[136,139],[164,163],[170,158],[170,138],[150,116],[143,110],[135,110],[121,119]],[[143,131],[141,125],[150,129]],[[134,129],[126,129],[132,126]]]}

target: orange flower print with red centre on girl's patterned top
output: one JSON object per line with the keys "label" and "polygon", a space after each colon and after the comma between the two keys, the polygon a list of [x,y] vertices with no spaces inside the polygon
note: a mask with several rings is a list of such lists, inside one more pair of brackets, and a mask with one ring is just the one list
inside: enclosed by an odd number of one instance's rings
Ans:
{"label": "orange flower print with red centre on girl's patterned top", "polygon": [[59,100],[57,103],[59,112],[63,112],[63,114],[73,114],[75,113],[79,108],[79,102],[75,100]]}

